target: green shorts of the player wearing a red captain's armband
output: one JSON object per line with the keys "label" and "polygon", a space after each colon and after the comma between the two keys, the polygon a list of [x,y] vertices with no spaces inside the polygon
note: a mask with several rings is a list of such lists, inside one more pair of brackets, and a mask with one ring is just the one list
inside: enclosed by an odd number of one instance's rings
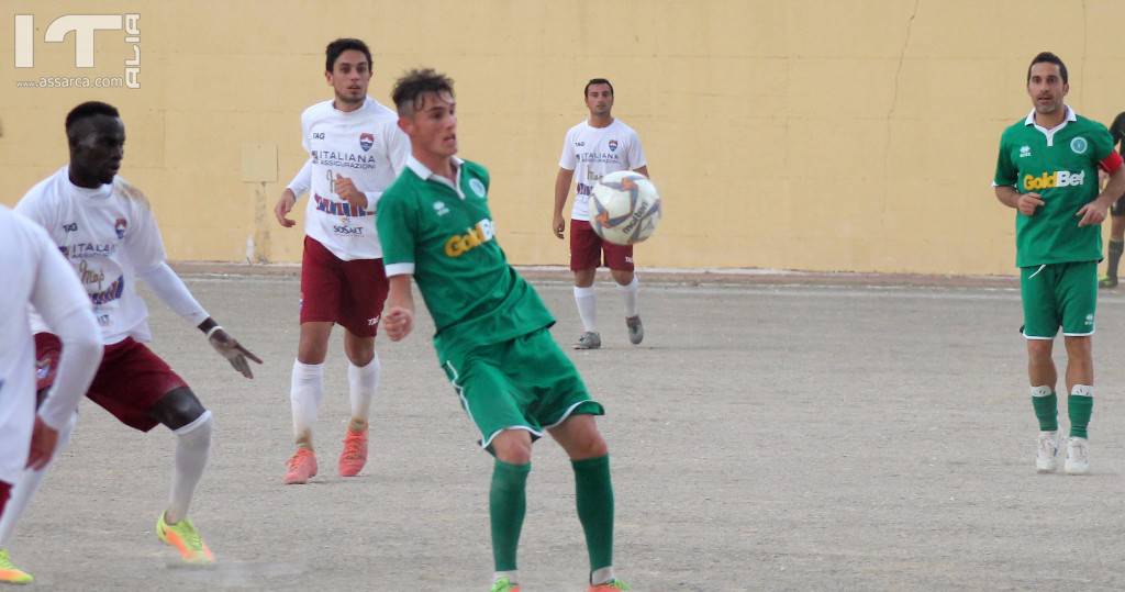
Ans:
{"label": "green shorts of the player wearing a red captain's armband", "polygon": [[1094,334],[1098,303],[1098,262],[1051,263],[1019,268],[1024,337],[1054,339]]}

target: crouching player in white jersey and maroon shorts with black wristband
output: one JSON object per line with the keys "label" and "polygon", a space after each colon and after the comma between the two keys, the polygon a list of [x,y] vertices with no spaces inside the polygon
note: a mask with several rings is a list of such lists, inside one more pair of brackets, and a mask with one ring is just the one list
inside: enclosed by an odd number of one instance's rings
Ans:
{"label": "crouching player in white jersey and maroon shorts with black wristband", "polygon": [[[105,348],[87,396],[122,423],[141,431],[164,424],[177,436],[172,492],[156,521],[158,537],[190,563],[214,556],[191,521],[188,506],[207,465],[212,414],[187,383],[144,346],[150,339],[147,310],[136,293],[144,280],[180,316],[204,332],[231,365],[252,377],[246,358],[261,362],[223,330],[196,302],[165,262],[164,246],[144,196],[117,177],[124,156],[125,126],[104,102],[83,102],[66,116],[70,164],[33,187],[16,210],[38,223],[70,262],[86,288]],[[52,332],[46,332],[47,330]],[[65,344],[52,323],[35,335],[39,386],[54,379]],[[12,496],[19,511],[38,486],[42,472],[25,474]],[[4,517],[4,522],[9,517]],[[8,536],[10,524],[0,524]]]}

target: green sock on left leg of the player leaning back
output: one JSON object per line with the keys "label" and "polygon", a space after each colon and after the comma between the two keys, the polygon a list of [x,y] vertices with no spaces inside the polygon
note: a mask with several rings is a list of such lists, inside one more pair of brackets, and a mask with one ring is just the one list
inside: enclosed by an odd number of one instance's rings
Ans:
{"label": "green sock on left leg of the player leaning back", "polygon": [[515,571],[515,551],[520,546],[520,529],[528,510],[526,465],[510,465],[496,460],[492,488],[488,491],[488,517],[492,521],[493,562],[497,572]]}

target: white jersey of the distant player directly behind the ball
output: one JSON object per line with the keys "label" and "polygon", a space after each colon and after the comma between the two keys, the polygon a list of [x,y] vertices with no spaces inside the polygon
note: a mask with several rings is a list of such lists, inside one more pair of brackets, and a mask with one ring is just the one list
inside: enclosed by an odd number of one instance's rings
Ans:
{"label": "white jersey of the distant player directly behind the ball", "polygon": [[559,167],[575,171],[573,219],[590,219],[590,191],[602,177],[615,171],[634,171],[648,164],[640,137],[621,119],[605,127],[583,122],[566,133]]}

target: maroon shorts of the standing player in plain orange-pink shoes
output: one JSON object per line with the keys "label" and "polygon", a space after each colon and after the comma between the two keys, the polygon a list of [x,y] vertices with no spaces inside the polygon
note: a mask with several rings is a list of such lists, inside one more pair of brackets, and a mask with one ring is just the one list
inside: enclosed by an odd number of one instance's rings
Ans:
{"label": "maroon shorts of the standing player in plain orange-pink shoes", "polygon": [[343,261],[315,239],[305,236],[302,323],[339,323],[356,337],[374,338],[388,286],[381,259]]}

